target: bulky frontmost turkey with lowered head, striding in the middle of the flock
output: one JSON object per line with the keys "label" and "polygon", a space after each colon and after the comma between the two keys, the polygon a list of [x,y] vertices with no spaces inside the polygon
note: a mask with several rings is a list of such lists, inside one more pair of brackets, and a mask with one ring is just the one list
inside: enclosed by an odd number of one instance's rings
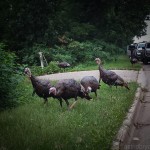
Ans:
{"label": "bulky frontmost turkey with lowered head, striding in the middle of the flock", "polygon": [[[59,100],[60,105],[62,107],[62,99],[65,100],[67,107],[69,108],[68,99],[75,98],[75,103],[77,101],[77,97],[86,98],[90,100],[91,97],[84,92],[83,87],[74,79],[64,79],[57,82],[55,87],[51,87],[49,89],[49,93],[53,93]],[[74,106],[73,103],[70,106],[70,109]]]}

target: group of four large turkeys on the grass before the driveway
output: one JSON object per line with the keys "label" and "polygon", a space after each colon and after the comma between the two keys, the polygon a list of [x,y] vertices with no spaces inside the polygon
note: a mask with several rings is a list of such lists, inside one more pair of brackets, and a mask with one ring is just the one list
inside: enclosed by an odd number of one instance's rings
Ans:
{"label": "group of four large turkeys on the grass before the driveway", "polygon": [[[44,99],[44,103],[48,102],[49,97],[53,97],[59,100],[62,107],[62,101],[65,100],[68,109],[71,109],[77,101],[77,97],[90,100],[90,92],[95,92],[97,96],[97,89],[100,88],[100,80],[109,86],[124,86],[129,90],[127,82],[125,82],[115,72],[106,70],[101,65],[99,58],[95,59],[99,65],[99,82],[94,76],[85,76],[80,82],[74,79],[62,79],[59,80],[55,86],[53,86],[49,80],[40,80],[33,76],[29,68],[25,68],[24,73],[30,78],[33,86],[33,94],[35,93]],[[68,99],[75,98],[75,102],[69,106]]]}

